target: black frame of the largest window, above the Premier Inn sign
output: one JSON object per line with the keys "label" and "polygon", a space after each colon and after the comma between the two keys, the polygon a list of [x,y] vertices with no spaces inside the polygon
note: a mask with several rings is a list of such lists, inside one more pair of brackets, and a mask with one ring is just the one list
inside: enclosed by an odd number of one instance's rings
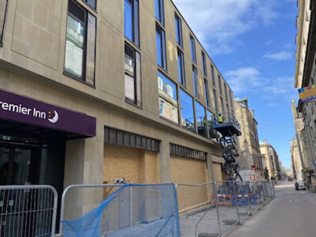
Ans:
{"label": "black frame of the largest window, above the Premier Inn sign", "polygon": [[[70,7],[69,7],[69,4],[71,4],[70,2],[72,2],[72,4],[76,5],[77,7],[79,7],[82,11],[84,11],[84,17],[83,17],[83,21],[81,19],[79,19],[75,13],[72,13],[70,12]],[[68,18],[68,15],[72,18],[74,18],[75,20],[77,20],[78,22],[80,22],[83,26],[84,26],[84,31],[83,31],[83,49],[82,49],[82,76],[81,77],[78,77],[70,72],[67,72],[65,71],[65,62],[66,62],[66,42],[67,40],[65,39],[65,56],[64,56],[64,67],[63,67],[63,74],[67,77],[70,77],[72,79],[76,79],[86,85],[89,85],[91,87],[94,87],[95,88],[95,70],[96,70],[96,33],[97,33],[97,18],[95,15],[93,15],[88,9],[86,9],[85,7],[83,7],[82,5],[80,5],[76,0],[69,0],[68,1],[68,6],[67,6],[67,18]],[[94,71],[93,71],[93,84],[87,82],[86,80],[86,76],[87,76],[87,48],[88,48],[88,45],[87,45],[87,35],[88,35],[88,15],[94,17],[95,19],[95,29],[94,29]],[[67,24],[66,24],[66,38],[67,38]],[[92,46],[92,45],[91,45]]]}

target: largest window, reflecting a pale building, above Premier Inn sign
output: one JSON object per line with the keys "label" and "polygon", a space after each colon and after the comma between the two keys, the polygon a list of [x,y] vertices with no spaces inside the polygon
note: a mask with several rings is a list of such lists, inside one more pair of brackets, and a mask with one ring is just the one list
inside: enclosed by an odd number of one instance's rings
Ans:
{"label": "largest window, reflecting a pale building, above Premier Inn sign", "polygon": [[69,0],[64,73],[94,85],[96,18]]}

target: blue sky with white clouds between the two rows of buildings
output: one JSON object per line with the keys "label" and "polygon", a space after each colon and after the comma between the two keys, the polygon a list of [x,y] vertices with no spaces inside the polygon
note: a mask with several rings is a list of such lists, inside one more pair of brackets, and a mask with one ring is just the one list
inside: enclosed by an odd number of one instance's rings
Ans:
{"label": "blue sky with white clouds between the two rows of buildings", "polygon": [[173,0],[234,92],[248,99],[259,140],[291,166],[297,0]]}

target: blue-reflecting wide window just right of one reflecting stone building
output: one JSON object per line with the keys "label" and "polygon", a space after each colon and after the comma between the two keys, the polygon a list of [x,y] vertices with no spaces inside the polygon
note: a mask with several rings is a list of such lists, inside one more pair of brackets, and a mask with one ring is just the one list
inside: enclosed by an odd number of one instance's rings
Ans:
{"label": "blue-reflecting wide window just right of one reflecting stone building", "polygon": [[182,89],[180,89],[180,105],[182,127],[196,132],[193,112],[193,98]]}

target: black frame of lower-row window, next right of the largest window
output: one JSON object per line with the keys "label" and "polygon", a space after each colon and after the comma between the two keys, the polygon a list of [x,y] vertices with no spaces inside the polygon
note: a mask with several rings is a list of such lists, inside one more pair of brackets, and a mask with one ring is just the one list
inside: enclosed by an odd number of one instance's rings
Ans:
{"label": "black frame of lower-row window, next right of the largest window", "polygon": [[[126,47],[128,47],[129,50],[133,51],[133,61],[134,61],[134,99],[130,99],[128,97],[126,97],[125,95],[125,102],[135,105],[137,107],[142,108],[143,106],[143,99],[142,99],[142,63],[141,63],[141,54],[140,52],[138,52],[134,47],[132,47],[129,43],[127,43],[125,41],[124,43],[124,60],[125,60],[125,55],[126,55]],[[138,75],[138,70],[137,70],[137,59],[136,59],[136,54],[139,54],[139,74]],[[131,57],[130,55],[127,54],[127,56]],[[124,70],[124,77],[126,75],[126,71]],[[125,83],[125,78],[124,78],[124,83]],[[140,88],[138,88],[137,86],[140,86]],[[126,88],[124,90],[124,94],[126,93]]]}

